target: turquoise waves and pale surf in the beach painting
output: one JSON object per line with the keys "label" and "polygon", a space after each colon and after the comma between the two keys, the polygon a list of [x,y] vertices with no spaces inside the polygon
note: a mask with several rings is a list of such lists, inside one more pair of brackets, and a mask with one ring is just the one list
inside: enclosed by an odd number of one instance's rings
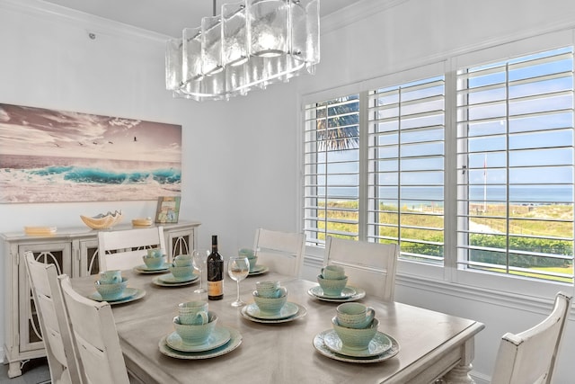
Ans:
{"label": "turquoise waves and pale surf in the beach painting", "polygon": [[0,202],[135,201],[179,194],[180,163],[0,155]]}

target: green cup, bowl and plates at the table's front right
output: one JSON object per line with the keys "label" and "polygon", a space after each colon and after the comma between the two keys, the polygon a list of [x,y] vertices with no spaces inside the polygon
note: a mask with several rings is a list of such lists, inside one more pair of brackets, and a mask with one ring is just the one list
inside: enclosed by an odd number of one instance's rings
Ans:
{"label": "green cup, bowl and plates at the table's front right", "polygon": [[341,362],[384,362],[399,353],[397,341],[378,330],[374,308],[361,303],[343,303],[332,317],[332,329],[314,337],[314,348]]}

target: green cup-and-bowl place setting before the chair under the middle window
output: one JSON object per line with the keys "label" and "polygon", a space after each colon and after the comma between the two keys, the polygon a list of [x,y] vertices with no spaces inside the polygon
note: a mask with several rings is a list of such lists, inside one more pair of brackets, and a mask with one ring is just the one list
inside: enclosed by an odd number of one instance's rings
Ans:
{"label": "green cup-and-bowl place setting before the chair under the middle window", "polygon": [[363,299],[366,296],[365,290],[347,285],[348,276],[341,265],[324,266],[317,275],[317,282],[319,285],[307,290],[307,294],[314,299],[345,302]]}

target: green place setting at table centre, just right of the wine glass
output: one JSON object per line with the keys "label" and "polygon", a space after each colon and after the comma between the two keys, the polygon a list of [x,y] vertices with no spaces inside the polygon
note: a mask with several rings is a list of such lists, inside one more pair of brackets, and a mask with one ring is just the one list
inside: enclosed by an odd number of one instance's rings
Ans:
{"label": "green place setting at table centre, just right of the wine glass", "polygon": [[279,281],[257,281],[253,303],[242,308],[242,316],[256,323],[276,324],[305,317],[307,309],[288,301],[288,289]]}

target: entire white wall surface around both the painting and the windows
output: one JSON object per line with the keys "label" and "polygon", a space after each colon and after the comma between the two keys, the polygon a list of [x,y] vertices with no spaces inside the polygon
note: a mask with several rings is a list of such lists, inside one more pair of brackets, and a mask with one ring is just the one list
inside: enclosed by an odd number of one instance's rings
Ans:
{"label": "entire white wall surface around both the painting and the windows", "polygon": [[[300,229],[302,94],[575,24],[571,0],[367,0],[323,21],[315,76],[230,102],[195,103],[174,100],[164,90],[164,37],[48,4],[41,4],[47,12],[38,12],[29,4],[40,3],[0,0],[0,103],[181,124],[181,218],[202,222],[200,246],[219,235],[224,255],[251,245],[255,228]],[[151,216],[155,201],[4,204],[0,232],[25,225],[81,226],[80,214],[116,209],[124,210],[126,220]],[[306,274],[313,276],[309,265]],[[486,324],[476,344],[479,378],[491,375],[500,335],[533,325],[548,311],[548,304],[526,308],[406,276],[399,277],[396,292],[400,301]],[[556,382],[572,381],[573,358],[575,345],[565,343]]]}

